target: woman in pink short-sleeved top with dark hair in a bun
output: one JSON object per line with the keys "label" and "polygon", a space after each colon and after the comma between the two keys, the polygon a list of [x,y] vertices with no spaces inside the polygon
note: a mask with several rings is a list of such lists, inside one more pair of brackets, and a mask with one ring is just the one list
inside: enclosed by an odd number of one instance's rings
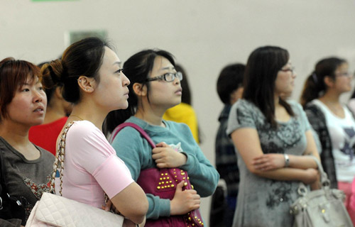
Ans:
{"label": "woman in pink short-sleeved top with dark hair in a bun", "polygon": [[45,87],[61,83],[63,98],[73,104],[58,137],[59,142],[66,133],[65,148],[55,156],[59,175],[55,193],[97,208],[109,207],[107,194],[114,211],[142,223],[148,209],[146,195],[102,133],[109,111],[128,106],[130,82],[121,60],[99,38],[85,38],[70,45],[61,60],[43,65],[42,71]]}

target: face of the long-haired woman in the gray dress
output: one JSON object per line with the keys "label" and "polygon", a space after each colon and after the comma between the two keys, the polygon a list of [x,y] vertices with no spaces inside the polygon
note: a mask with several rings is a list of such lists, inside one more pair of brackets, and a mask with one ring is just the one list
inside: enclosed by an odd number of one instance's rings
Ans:
{"label": "face of the long-haired woman in the gray dress", "polygon": [[279,71],[275,80],[275,94],[290,94],[295,87],[296,73],[290,60]]}

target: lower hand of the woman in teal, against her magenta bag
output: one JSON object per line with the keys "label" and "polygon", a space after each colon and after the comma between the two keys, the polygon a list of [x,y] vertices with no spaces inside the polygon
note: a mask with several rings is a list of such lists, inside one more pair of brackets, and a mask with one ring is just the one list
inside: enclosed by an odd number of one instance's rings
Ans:
{"label": "lower hand of the woman in teal, against her magenta bag", "polygon": [[184,190],[185,181],[176,186],[173,200],[170,201],[170,215],[187,214],[190,211],[200,208],[200,195],[195,190]]}

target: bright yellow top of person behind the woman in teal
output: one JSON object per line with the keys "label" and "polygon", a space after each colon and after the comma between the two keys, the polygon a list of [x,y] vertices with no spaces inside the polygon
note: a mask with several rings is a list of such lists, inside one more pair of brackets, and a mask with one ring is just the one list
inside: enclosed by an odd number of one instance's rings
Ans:
{"label": "bright yellow top of person behind the woman in teal", "polygon": [[197,143],[200,143],[197,128],[197,116],[195,110],[189,104],[180,103],[167,111],[163,116],[166,121],[175,121],[178,123],[185,123],[189,126],[192,135]]}

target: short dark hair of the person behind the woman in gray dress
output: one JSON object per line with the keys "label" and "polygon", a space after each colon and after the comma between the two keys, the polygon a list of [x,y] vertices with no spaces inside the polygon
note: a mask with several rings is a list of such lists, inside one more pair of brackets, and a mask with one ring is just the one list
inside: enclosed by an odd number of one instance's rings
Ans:
{"label": "short dark hair of the person behind the woman in gray dress", "polygon": [[217,79],[217,93],[224,104],[231,104],[231,93],[243,87],[245,65],[236,63],[227,65]]}

